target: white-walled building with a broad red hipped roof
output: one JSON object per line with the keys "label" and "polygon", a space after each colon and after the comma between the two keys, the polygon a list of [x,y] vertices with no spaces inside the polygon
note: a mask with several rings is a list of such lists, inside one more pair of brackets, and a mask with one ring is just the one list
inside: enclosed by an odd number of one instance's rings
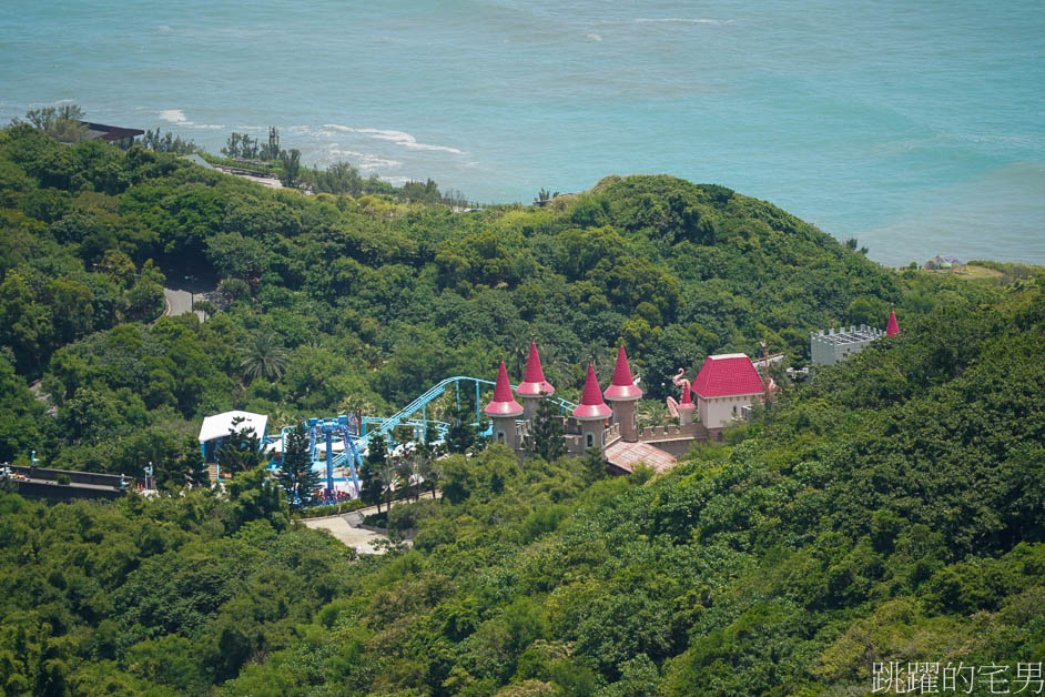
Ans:
{"label": "white-walled building with a broad red hipped roof", "polygon": [[708,356],[692,388],[704,428],[724,428],[743,418],[743,408],[761,398],[764,391],[762,376],[743,353]]}

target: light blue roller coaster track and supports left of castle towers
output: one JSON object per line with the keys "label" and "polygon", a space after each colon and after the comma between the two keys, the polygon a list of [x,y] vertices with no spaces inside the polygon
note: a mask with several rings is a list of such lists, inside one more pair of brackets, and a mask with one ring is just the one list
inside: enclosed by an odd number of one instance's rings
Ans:
{"label": "light blue roller coaster track and supports left of castle towers", "polygon": [[[357,468],[363,465],[363,453],[366,452],[367,445],[371,440],[375,437],[383,437],[386,440],[392,440],[393,431],[397,426],[409,426],[415,437],[418,441],[424,441],[428,428],[434,428],[436,440],[443,440],[446,437],[447,431],[450,428],[450,424],[428,418],[427,407],[430,402],[439,398],[450,387],[453,387],[456,395],[457,411],[460,412],[460,394],[461,394],[461,384],[467,384],[467,390],[475,388],[475,404],[476,404],[476,420],[474,425],[478,426],[481,423],[483,415],[483,400],[480,392],[484,386],[493,387],[494,383],[489,380],[483,380],[480,377],[468,377],[466,375],[456,375],[454,377],[447,377],[446,380],[433,385],[420,396],[415,398],[413,402],[400,408],[398,412],[387,417],[376,417],[376,416],[366,416],[363,418],[363,423],[359,424],[358,428],[351,428],[351,425],[355,425],[355,418],[348,416],[338,416],[336,418],[310,418],[306,424],[308,426],[308,452],[312,453],[313,467],[314,468],[324,468],[326,472],[326,487],[328,491],[334,488],[335,481],[343,481],[343,477],[334,477],[334,469],[338,467],[347,467],[352,475],[352,483],[355,488],[356,496],[359,495],[359,478]],[[516,385],[511,385],[511,388],[515,390]],[[574,410],[577,407],[577,404],[561,397],[550,397],[551,403],[558,405],[561,412],[568,410]],[[418,418],[419,414],[419,418]],[[293,426],[286,426],[281,433],[281,438],[283,442],[286,442],[286,433]],[[356,433],[351,433],[356,431]],[[344,449],[337,455],[333,454],[333,442],[335,436],[339,437],[344,444]]]}

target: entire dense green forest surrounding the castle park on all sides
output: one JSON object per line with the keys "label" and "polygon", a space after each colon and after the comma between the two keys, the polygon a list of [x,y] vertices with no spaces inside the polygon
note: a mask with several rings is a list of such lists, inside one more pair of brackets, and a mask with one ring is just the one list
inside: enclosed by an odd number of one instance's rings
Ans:
{"label": "entire dense green forest surrounding the castle park on all sides", "polygon": [[[369,199],[369,200],[366,200]],[[0,132],[0,459],[169,492],[0,494],[8,694],[816,695],[874,661],[1045,655],[1042,281],[882,269],[761,201],[607,178],[456,213],[270,191],[140,147]],[[161,317],[209,279],[209,319]],[[903,327],[670,474],[491,446],[353,558],[263,471],[182,488],[204,415],[388,413],[454,374],[560,393],[628,347],[647,396],[712,352]],[[1016,685],[1014,684],[1015,691]],[[1033,691],[1033,688],[1032,688]],[[984,694],[987,694],[984,691]]]}

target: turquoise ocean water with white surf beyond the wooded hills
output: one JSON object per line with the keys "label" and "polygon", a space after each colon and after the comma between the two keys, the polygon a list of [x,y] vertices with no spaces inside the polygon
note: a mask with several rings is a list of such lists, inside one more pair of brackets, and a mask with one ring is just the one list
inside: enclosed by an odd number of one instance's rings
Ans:
{"label": "turquoise ocean water with white surf beyond the wooded hills", "polygon": [[1045,263],[1045,2],[389,0],[0,7],[0,119],[61,100],[217,151],[479,201],[670,173],[887,264]]}

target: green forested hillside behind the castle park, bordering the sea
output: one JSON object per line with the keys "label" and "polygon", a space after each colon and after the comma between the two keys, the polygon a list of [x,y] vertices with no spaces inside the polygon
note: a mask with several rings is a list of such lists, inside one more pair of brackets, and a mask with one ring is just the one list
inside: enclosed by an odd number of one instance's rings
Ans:
{"label": "green forested hillside behind the castle park, bordering the sea", "polygon": [[[566,394],[622,341],[662,400],[708,353],[765,340],[801,365],[810,330],[881,326],[889,303],[904,321],[953,294],[905,293],[925,280],[668,176],[454,213],[273,192],[19,125],[0,134],[0,370],[21,377],[3,393],[0,459],[34,446],[49,464],[130,475],[152,459],[176,479],[206,414],[389,413],[448,375],[491,377],[500,358],[520,373],[530,339]],[[155,321],[164,274],[216,285],[213,316]],[[39,378],[47,405],[24,388]]]}

